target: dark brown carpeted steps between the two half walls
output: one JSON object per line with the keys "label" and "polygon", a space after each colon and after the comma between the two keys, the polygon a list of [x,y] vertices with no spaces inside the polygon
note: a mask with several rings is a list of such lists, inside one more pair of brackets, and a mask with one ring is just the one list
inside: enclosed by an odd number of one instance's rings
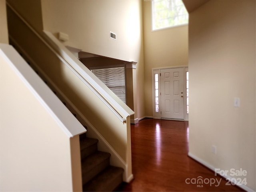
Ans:
{"label": "dark brown carpeted steps between the two half walls", "polygon": [[83,191],[114,191],[124,170],[110,166],[110,154],[98,151],[98,140],[80,135]]}

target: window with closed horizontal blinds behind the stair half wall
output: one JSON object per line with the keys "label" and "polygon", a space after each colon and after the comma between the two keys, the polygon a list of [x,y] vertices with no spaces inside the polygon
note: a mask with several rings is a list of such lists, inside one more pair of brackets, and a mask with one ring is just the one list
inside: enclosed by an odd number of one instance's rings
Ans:
{"label": "window with closed horizontal blinds behind the stair half wall", "polygon": [[124,67],[91,69],[91,71],[126,103],[126,82]]}

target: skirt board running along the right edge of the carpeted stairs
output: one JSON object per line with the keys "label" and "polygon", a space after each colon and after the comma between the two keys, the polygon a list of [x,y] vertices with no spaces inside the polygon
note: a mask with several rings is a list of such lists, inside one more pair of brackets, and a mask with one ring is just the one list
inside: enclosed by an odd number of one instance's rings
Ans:
{"label": "skirt board running along the right edge of the carpeted stairs", "polygon": [[[73,114],[77,114],[76,118],[81,122],[81,124],[86,126],[86,135],[90,138],[98,139],[98,150],[108,152],[111,154],[110,156],[110,165],[121,167],[124,169],[123,181],[130,182],[134,176],[133,174],[129,174],[128,164],[120,157],[120,155],[112,148],[112,146],[106,141],[106,139],[98,132],[98,130],[87,120],[87,118],[72,104],[72,102],[64,95],[64,93],[54,84],[54,82],[48,77],[48,75],[40,69],[40,67],[36,64],[36,62],[26,53],[26,51],[9,35],[9,38],[13,44],[15,44],[16,49],[23,53],[23,57],[26,58],[26,61],[30,62],[30,65],[38,71],[41,78],[48,82],[47,85],[51,88],[51,90],[55,90],[56,96],[62,101],[66,102],[66,107]],[[126,123],[130,122],[130,116],[126,117]],[[130,168],[131,169],[131,168]]]}

